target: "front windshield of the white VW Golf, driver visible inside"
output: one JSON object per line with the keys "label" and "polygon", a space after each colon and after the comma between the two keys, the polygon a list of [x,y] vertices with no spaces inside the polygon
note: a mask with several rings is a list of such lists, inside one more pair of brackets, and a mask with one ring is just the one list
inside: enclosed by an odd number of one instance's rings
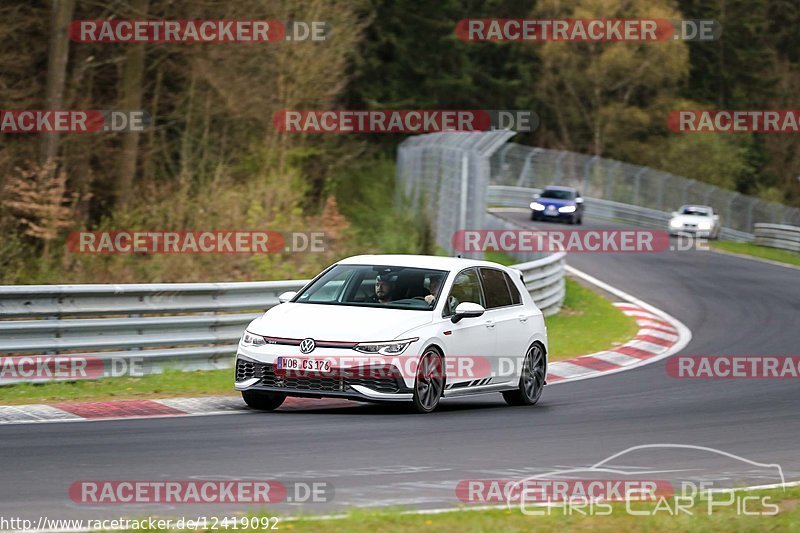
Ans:
{"label": "front windshield of the white VW Golf, driver visible inside", "polygon": [[430,311],[447,272],[392,265],[336,265],[292,301]]}

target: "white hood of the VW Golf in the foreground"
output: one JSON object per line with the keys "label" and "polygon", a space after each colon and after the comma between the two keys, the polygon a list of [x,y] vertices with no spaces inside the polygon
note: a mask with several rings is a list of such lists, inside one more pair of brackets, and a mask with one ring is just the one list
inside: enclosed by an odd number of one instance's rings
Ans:
{"label": "white hood of the VW Golf in the foreground", "polygon": [[425,310],[285,303],[253,320],[247,330],[269,337],[367,342],[393,340],[432,320],[433,312]]}

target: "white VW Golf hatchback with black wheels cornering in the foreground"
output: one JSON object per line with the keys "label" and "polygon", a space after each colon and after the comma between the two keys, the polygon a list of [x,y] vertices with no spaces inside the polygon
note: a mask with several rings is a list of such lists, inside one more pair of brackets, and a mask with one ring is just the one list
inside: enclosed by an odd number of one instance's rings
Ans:
{"label": "white VW Golf hatchback with black wheels cornering in the foreground", "polygon": [[487,261],[415,255],[344,259],[253,320],[236,389],[254,409],[288,396],[413,402],[500,392],[533,405],[547,330],[520,272]]}

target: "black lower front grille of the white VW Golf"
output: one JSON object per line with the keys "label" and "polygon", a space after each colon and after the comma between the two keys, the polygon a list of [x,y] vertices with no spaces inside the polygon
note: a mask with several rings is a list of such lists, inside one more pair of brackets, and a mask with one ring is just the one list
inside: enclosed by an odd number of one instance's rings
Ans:
{"label": "black lower front grille of the white VW Golf", "polygon": [[352,385],[360,385],[383,393],[396,393],[404,388],[399,374],[392,372],[386,377],[314,377],[276,375],[270,363],[258,363],[246,359],[236,360],[236,381],[261,378],[260,385],[307,392],[345,392],[352,391]]}

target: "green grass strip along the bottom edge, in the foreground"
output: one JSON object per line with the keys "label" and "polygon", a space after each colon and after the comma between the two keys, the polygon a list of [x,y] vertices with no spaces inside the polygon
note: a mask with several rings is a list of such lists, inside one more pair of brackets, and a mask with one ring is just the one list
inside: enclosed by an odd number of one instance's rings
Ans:
{"label": "green grass strip along the bottom edge, in the foreground", "polygon": [[[400,512],[354,511],[337,520],[285,521],[279,528],[298,532],[348,531],[372,533],[375,531],[798,531],[800,530],[800,489],[789,488],[768,491],[738,492],[739,498],[757,496],[750,500],[747,509],[773,513],[774,516],[744,516],[737,514],[735,505],[713,507],[708,512],[706,500],[698,499],[688,510],[693,514],[671,515],[666,506],[635,503],[631,509],[647,512],[649,516],[632,516],[624,503],[612,504],[608,516],[583,516],[577,512],[565,515],[564,508],[551,508],[545,516],[528,516],[518,509],[498,511],[453,512],[435,515],[401,514]],[[715,501],[723,498],[717,495]],[[769,498],[762,505],[760,498]],[[672,499],[666,500],[675,509]],[[688,506],[687,506],[688,507]],[[660,509],[656,511],[656,509]]]}

